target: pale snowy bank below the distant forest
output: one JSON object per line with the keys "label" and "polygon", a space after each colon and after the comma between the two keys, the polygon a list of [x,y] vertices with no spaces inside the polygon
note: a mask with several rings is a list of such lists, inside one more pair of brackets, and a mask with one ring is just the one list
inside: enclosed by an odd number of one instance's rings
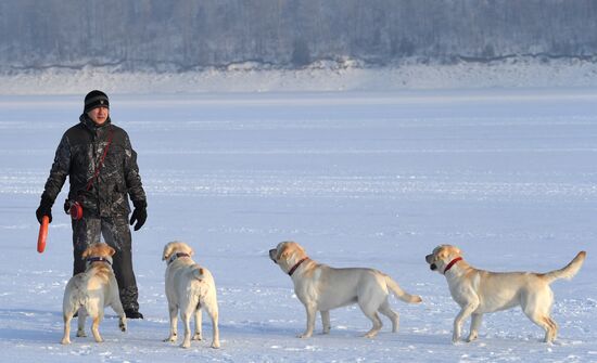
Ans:
{"label": "pale snowy bank below the distant forest", "polygon": [[246,62],[185,73],[52,67],[0,74],[0,94],[398,91],[471,88],[597,87],[597,63],[582,59],[513,57],[490,63],[365,67],[322,61],[301,69]]}

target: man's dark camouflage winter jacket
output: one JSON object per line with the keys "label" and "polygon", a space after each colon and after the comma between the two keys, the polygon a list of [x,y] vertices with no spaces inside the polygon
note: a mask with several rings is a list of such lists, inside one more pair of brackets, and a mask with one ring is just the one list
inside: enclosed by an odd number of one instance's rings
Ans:
{"label": "man's dark camouflage winter jacket", "polygon": [[[110,118],[103,125],[96,126],[84,114],[79,121],[66,130],[60,141],[41,198],[53,204],[68,177],[68,199],[82,204],[84,217],[126,216],[130,212],[127,196],[136,207],[147,206],[137,153],[126,131],[113,125]],[[112,142],[103,165],[87,190],[109,139]]]}

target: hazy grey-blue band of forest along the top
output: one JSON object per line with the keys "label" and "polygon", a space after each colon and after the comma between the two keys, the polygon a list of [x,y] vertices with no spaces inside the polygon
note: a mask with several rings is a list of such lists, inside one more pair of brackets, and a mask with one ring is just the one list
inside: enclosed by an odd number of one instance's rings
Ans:
{"label": "hazy grey-blue band of forest along the top", "polygon": [[0,0],[0,67],[597,54],[595,0]]}

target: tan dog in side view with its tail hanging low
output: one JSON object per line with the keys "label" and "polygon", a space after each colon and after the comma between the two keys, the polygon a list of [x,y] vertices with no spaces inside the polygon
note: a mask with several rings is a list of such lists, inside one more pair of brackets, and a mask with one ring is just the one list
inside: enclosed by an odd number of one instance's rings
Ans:
{"label": "tan dog in side view with its tail hanging low", "polygon": [[392,321],[392,332],[398,330],[398,313],[388,301],[389,290],[406,302],[421,302],[419,296],[406,294],[390,276],[372,269],[334,269],[309,259],[295,242],[282,242],[269,250],[276,262],[294,283],[294,293],[307,311],[307,328],[298,335],[308,338],[315,328],[317,311],[321,312],[323,334],[330,333],[330,310],[358,303],[360,310],[373,323],[365,334],[372,338],[381,329],[379,313]]}

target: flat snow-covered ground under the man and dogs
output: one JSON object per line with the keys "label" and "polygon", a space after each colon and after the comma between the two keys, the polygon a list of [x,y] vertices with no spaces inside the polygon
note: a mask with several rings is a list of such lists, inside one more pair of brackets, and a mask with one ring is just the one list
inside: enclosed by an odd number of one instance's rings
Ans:
{"label": "flat snow-covered ground under the man and dogs", "polygon": [[[111,94],[149,197],[134,233],[145,320],[123,334],[109,311],[104,343],[64,347],[65,193],[41,255],[35,209],[86,91],[0,96],[1,362],[597,361],[597,89]],[[162,341],[161,251],[173,239],[216,278],[219,350]],[[370,323],[348,307],[332,311],[330,335],[295,338],[304,309],[267,257],[285,239],[320,262],[384,271],[423,302],[391,298],[397,334],[384,320],[378,337],[360,337]],[[423,260],[439,244],[495,271],[559,269],[587,250],[579,275],[552,285],[557,341],[541,342],[515,309],[487,315],[478,341],[452,345],[458,307]]]}

